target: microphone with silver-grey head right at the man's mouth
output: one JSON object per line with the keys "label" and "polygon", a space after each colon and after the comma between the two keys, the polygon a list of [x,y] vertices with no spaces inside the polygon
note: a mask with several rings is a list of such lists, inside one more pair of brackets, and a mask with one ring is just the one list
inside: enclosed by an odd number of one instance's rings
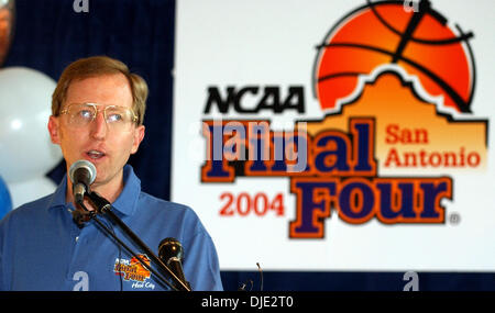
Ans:
{"label": "microphone with silver-grey head right at the man's mouth", "polygon": [[89,192],[89,186],[95,181],[96,176],[96,167],[88,160],[80,159],[70,166],[69,178],[73,182],[76,203],[82,202],[85,193]]}

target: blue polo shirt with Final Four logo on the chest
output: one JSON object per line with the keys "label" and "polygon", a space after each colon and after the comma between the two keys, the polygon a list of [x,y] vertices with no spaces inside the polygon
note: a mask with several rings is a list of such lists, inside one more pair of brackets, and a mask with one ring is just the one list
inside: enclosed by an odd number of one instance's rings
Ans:
{"label": "blue polo shirt with Final Four logo on the chest", "polygon": [[[193,290],[222,290],[213,242],[196,213],[142,192],[130,165],[123,176],[113,212],[156,255],[163,238],[177,238]],[[11,211],[0,222],[0,290],[168,290],[95,221],[78,226],[66,190],[65,177],[53,194]],[[143,253],[119,226],[98,216],[135,253]]]}

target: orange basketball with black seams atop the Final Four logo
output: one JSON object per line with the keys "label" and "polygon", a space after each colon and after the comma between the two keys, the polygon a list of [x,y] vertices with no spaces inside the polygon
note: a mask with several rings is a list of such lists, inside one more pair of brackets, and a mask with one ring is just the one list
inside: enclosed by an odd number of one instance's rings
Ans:
{"label": "orange basketball with black seams atop the Final Four logo", "polygon": [[404,1],[367,3],[343,16],[318,45],[314,93],[323,111],[338,110],[339,100],[356,87],[360,75],[394,64],[416,76],[432,97],[443,97],[447,109],[470,113],[475,88],[475,65],[469,40],[459,25],[452,29],[430,1],[417,12]]}

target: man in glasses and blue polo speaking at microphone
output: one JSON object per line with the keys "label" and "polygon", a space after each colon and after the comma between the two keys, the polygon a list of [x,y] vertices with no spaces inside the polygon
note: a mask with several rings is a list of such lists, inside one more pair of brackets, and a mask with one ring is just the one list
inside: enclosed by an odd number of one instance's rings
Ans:
{"label": "man in glasses and blue polo speaking at microphone", "polygon": [[[213,242],[196,213],[142,192],[127,165],[144,137],[146,98],[146,82],[123,63],[79,59],[64,70],[53,93],[50,136],[61,146],[67,172],[77,161],[94,165],[91,191],[151,249],[177,238],[193,290],[222,290]],[[89,214],[75,201],[68,176],[53,194],[11,211],[0,222],[0,290],[169,290],[141,262],[150,265],[150,256],[140,251],[139,261],[95,219],[74,216]],[[98,220],[138,249],[112,220]]]}

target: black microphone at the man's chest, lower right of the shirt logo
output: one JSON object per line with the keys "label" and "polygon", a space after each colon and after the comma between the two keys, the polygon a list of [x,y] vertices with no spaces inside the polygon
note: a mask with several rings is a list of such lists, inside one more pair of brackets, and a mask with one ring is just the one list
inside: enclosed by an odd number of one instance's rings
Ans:
{"label": "black microphone at the man's chest, lower right of the shirt logo", "polygon": [[[186,281],[186,277],[184,276],[184,250],[183,245],[180,245],[179,241],[173,237],[168,237],[160,242],[158,257],[172,270],[172,272],[190,289],[189,282]],[[182,289],[180,286],[176,287],[178,289]]]}

